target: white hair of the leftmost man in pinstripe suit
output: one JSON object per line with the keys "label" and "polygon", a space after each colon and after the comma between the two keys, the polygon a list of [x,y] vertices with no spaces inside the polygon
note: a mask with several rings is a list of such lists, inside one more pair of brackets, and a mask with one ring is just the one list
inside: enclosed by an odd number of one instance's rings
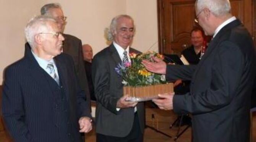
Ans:
{"label": "white hair of the leftmost man in pinstripe suit", "polygon": [[49,16],[36,16],[32,18],[25,27],[25,36],[31,47],[35,46],[35,35],[48,32],[50,30],[49,22],[56,22]]}

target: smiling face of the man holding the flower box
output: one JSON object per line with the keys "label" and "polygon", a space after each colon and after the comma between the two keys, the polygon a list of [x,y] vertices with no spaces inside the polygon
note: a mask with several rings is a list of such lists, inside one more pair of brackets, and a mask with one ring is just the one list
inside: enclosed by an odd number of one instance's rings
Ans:
{"label": "smiling face of the man holding the flower box", "polygon": [[128,17],[120,17],[117,20],[116,30],[112,32],[115,43],[126,49],[133,41],[134,24]]}

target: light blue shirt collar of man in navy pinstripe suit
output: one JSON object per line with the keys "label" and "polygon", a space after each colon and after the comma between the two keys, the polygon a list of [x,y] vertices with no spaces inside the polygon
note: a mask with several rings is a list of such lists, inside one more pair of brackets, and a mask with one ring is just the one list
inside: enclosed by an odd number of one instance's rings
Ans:
{"label": "light blue shirt collar of man in navy pinstripe suit", "polygon": [[[31,52],[32,52],[33,56],[36,58],[36,61],[39,64],[39,66],[41,66],[41,68],[43,68],[44,71],[46,71],[46,73],[48,73],[47,70],[46,70],[47,65],[49,63],[52,63],[54,71],[55,71],[55,74],[56,74],[57,78],[59,78],[58,69],[57,69],[57,66],[55,65],[55,62],[54,62],[53,59],[51,59],[50,61],[47,61],[47,60],[44,60],[44,59],[38,57],[36,54],[34,54],[34,52],[32,50],[31,50]],[[50,73],[48,73],[48,74],[50,75]]]}

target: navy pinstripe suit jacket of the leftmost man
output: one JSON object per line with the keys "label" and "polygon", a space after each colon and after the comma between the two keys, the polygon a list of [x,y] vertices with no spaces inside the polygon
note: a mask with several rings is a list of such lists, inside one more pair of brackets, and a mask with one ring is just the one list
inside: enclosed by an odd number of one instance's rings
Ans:
{"label": "navy pinstripe suit jacket of the leftmost man", "polygon": [[[84,92],[78,85],[72,58],[61,54],[54,59],[60,86],[39,66],[29,49],[21,60],[6,68],[2,110],[7,130],[15,142],[58,142],[69,136],[81,141],[78,119],[90,117]],[[52,87],[49,80],[57,87]],[[66,109],[59,108],[61,100],[56,98],[56,92],[62,92]],[[67,123],[59,125],[58,120],[63,119]],[[65,129],[69,126],[69,130]],[[63,135],[60,133],[63,131],[71,133]]]}

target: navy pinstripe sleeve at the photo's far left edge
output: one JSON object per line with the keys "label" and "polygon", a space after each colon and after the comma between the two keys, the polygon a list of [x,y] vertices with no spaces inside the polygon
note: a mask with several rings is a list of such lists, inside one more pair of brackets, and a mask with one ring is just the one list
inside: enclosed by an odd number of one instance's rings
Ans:
{"label": "navy pinstripe sleeve at the photo's far left edge", "polygon": [[30,142],[31,136],[25,123],[23,94],[17,80],[18,69],[9,68],[5,72],[3,85],[2,112],[5,125],[15,142]]}

